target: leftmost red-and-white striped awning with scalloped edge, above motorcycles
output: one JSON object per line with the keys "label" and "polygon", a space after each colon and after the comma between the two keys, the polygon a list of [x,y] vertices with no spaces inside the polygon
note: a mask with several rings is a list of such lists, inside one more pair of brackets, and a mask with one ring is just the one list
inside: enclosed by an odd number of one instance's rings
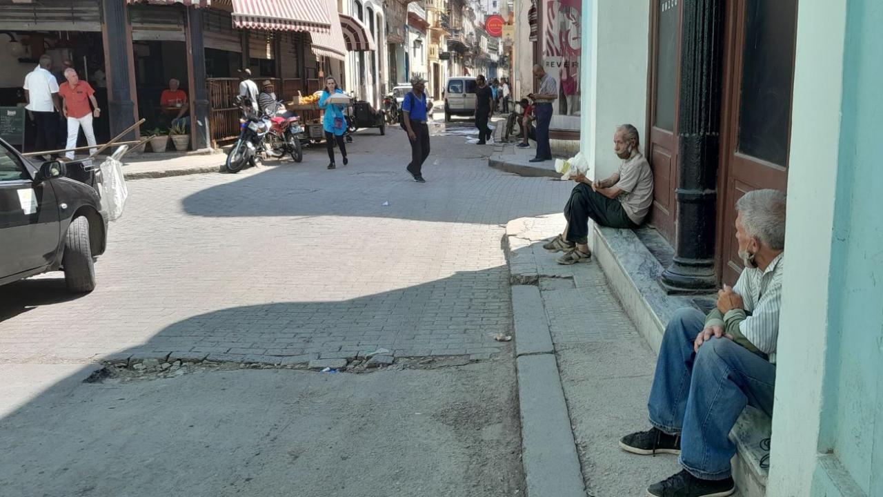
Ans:
{"label": "leftmost red-and-white striped awning with scalloped edge, above motorcycles", "polygon": [[[336,10],[335,10],[336,14]],[[265,31],[328,33],[332,21],[324,0],[233,0],[233,27]]]}

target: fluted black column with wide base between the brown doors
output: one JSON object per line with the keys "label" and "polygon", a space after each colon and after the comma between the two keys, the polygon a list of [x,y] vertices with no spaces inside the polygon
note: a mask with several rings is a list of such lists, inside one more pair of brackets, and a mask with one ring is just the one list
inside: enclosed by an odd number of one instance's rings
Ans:
{"label": "fluted black column with wide base between the brown doors", "polygon": [[725,3],[683,0],[674,262],[660,277],[669,293],[717,286],[714,228],[721,147]]}

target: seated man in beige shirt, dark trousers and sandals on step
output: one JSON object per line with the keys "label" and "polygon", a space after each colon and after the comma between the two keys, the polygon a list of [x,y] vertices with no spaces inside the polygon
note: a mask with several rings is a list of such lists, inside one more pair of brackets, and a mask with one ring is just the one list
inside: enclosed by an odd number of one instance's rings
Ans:
{"label": "seated man in beige shirt, dark trousers and sandals on step", "polygon": [[564,233],[543,245],[550,252],[563,251],[558,264],[576,264],[592,259],[589,251],[589,218],[614,228],[634,228],[644,222],[653,203],[653,171],[647,159],[638,152],[640,144],[635,126],[616,128],[614,149],[623,159],[619,171],[607,180],[588,180],[583,175],[573,178],[577,186],[564,206],[567,227]]}

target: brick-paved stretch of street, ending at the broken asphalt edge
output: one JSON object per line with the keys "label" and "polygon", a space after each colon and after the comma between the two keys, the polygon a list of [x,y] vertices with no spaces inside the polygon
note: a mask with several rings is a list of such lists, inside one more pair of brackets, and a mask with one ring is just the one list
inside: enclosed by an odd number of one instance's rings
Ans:
{"label": "brick-paved stretch of street, ending at the broken asphalt edge", "polygon": [[0,289],[0,361],[501,351],[502,226],[560,210],[569,186],[488,168],[492,148],[457,135],[472,123],[450,127],[433,138],[426,184],[404,172],[398,129],[358,134],[336,171],[308,149],[302,164],[131,181],[94,293],[72,297],[60,273]]}

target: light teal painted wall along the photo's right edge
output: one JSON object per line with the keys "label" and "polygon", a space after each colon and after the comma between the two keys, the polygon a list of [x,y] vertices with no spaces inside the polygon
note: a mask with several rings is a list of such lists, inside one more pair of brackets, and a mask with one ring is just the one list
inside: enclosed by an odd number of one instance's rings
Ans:
{"label": "light teal painted wall along the photo's right edge", "polygon": [[[852,0],[843,57],[840,154],[831,247],[829,343],[813,495],[848,477],[883,495],[883,3]],[[800,164],[791,164],[800,167]],[[831,474],[837,473],[839,475]],[[821,478],[820,478],[821,477]],[[838,478],[839,477],[839,478]],[[826,479],[831,481],[826,481]],[[849,494],[840,489],[839,494]]]}

